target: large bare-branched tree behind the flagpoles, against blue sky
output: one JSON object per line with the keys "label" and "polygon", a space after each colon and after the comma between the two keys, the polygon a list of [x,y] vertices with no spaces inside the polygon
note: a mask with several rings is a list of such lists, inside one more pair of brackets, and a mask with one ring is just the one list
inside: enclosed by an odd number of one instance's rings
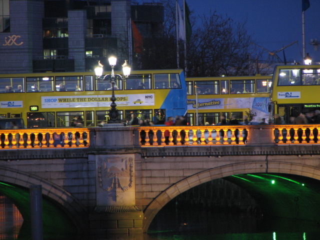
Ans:
{"label": "large bare-branched tree behind the flagpoles, against blue sky", "polygon": [[[143,39],[143,51],[134,58],[141,69],[176,68],[175,4],[162,0],[164,22],[162,31]],[[191,12],[192,14],[192,12]],[[252,44],[244,23],[215,11],[201,17],[195,24],[191,17],[192,35],[187,43],[187,76],[253,75],[263,73],[264,65],[257,59],[261,50]],[[180,42],[182,43],[182,42]],[[184,66],[183,44],[179,49],[179,65]]]}

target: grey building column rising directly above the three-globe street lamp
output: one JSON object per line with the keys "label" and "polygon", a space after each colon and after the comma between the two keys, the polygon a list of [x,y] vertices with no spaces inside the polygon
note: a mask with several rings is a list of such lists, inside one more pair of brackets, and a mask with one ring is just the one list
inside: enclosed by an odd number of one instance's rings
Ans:
{"label": "grey building column rising directly above the three-globe street lamp", "polygon": [[111,34],[117,38],[117,57],[128,59],[128,21],[130,0],[111,0]]}

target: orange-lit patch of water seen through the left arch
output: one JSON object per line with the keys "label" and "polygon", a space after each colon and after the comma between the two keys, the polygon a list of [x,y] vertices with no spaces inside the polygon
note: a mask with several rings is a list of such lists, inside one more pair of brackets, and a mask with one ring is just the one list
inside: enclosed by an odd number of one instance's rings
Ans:
{"label": "orange-lit patch of water seen through the left arch", "polygon": [[0,239],[17,239],[22,222],[22,215],[12,201],[0,195]]}

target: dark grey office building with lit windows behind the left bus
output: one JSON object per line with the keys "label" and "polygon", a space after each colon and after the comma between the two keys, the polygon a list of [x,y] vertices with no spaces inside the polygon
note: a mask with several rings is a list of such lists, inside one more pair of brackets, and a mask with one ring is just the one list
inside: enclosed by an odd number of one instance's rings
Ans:
{"label": "dark grey office building with lit windows behind the left bus", "polygon": [[0,73],[90,71],[110,54],[130,62],[135,34],[156,34],[162,23],[160,3],[0,0]]}

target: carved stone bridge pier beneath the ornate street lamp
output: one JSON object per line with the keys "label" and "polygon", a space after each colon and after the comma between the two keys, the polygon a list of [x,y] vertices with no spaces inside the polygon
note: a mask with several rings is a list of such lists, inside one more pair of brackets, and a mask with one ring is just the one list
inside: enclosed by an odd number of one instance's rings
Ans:
{"label": "carved stone bridge pier beneath the ornate street lamp", "polygon": [[[93,134],[92,134],[93,133]],[[135,205],[137,130],[112,124],[90,134],[89,160],[95,162],[96,206],[89,214],[91,235],[141,234],[143,212]]]}

